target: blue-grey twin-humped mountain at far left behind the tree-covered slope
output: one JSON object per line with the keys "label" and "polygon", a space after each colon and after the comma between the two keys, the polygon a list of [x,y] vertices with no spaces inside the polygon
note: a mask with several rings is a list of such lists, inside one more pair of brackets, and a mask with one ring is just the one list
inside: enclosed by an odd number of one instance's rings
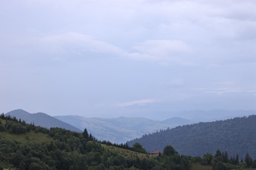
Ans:
{"label": "blue-grey twin-humped mountain at far left behind the tree-covered slope", "polygon": [[61,120],[58,120],[43,112],[37,112],[37,113],[31,114],[29,112],[26,112],[25,110],[17,109],[17,110],[12,110],[11,112],[7,112],[6,115],[15,116],[17,119],[24,120],[28,124],[33,123],[35,124],[35,126],[41,126],[41,127],[47,127],[47,128],[62,127],[70,131],[77,131],[77,132],[82,131],[77,127],[67,124],[66,122],[62,122]]}

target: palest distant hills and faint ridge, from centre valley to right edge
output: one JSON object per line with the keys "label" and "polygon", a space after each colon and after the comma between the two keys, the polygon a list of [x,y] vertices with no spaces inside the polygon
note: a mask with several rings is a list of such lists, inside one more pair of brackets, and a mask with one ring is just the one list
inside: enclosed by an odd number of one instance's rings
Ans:
{"label": "palest distant hills and faint ridge, from centre valley to right edge", "polygon": [[[142,137],[148,133],[160,131],[160,129],[173,128],[196,122],[210,122],[225,120],[238,116],[255,114],[255,110],[190,110],[170,115],[177,117],[167,120],[150,120],[147,118],[85,118],[82,116],[54,116],[63,122],[72,124],[79,129],[85,129],[92,133],[96,139],[107,140],[112,143],[126,143],[132,139]],[[179,116],[179,117],[178,117]]]}

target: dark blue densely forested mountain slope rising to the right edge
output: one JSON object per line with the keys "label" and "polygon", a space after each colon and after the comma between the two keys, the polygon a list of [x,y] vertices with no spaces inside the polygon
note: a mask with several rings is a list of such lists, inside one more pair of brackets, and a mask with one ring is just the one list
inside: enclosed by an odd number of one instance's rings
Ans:
{"label": "dark blue densely forested mountain slope rising to the right edge", "polygon": [[230,156],[251,153],[256,158],[256,116],[244,116],[215,122],[200,122],[179,126],[157,133],[144,135],[129,141],[129,146],[140,143],[149,152],[163,150],[171,144],[177,152],[191,156],[215,154],[217,149],[226,150]]}

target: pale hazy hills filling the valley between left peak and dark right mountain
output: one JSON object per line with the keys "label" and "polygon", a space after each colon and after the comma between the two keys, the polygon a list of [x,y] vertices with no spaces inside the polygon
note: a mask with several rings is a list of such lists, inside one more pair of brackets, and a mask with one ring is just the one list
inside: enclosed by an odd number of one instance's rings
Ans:
{"label": "pale hazy hills filling the valley between left peak and dark right mountain", "polygon": [[170,118],[156,121],[146,118],[85,118],[82,116],[54,116],[63,122],[72,124],[79,129],[87,128],[89,133],[98,140],[106,140],[112,143],[125,143],[146,133],[153,133],[168,127],[190,124],[190,120],[184,118]]}

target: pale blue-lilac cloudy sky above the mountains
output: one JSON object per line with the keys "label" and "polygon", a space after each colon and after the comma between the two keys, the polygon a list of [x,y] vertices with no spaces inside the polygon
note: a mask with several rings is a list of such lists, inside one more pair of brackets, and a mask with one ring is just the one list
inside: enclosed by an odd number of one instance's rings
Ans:
{"label": "pale blue-lilac cloudy sky above the mountains", "polygon": [[255,0],[0,1],[0,111],[256,109]]}

